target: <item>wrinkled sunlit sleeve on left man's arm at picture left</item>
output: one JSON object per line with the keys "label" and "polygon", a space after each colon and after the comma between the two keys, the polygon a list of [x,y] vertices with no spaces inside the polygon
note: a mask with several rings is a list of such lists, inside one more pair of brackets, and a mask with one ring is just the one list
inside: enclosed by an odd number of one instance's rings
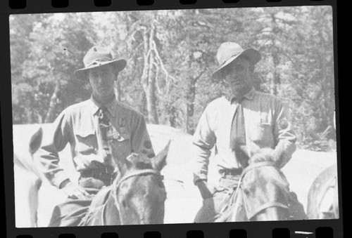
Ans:
{"label": "wrinkled sunlit sleeve on left man's arm at picture left", "polygon": [[54,121],[51,131],[48,132],[48,140],[44,140],[38,151],[39,161],[42,164],[42,172],[49,182],[60,187],[64,180],[68,180],[63,168],[58,165],[58,152],[63,150],[70,140],[69,121],[64,113],[61,113]]}

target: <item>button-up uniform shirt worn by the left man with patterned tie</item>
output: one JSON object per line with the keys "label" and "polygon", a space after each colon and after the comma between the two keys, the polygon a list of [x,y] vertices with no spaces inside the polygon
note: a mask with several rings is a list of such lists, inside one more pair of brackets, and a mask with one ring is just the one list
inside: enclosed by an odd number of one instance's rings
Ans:
{"label": "button-up uniform shirt worn by the left man with patterned tie", "polygon": [[[44,175],[52,185],[59,187],[68,179],[63,168],[58,166],[58,152],[70,143],[73,164],[77,171],[104,168],[106,150],[102,148],[99,128],[99,103],[90,98],[82,103],[67,107],[54,121],[48,140],[39,150],[39,160]],[[132,152],[154,157],[146,122],[142,114],[124,105],[115,98],[107,103],[106,112],[111,121],[113,159],[125,159]]]}

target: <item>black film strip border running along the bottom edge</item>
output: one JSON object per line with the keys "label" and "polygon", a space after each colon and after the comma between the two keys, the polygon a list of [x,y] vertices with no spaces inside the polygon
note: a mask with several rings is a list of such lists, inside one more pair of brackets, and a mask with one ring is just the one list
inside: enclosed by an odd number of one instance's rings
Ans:
{"label": "black film strip border running along the bottom edge", "polygon": [[[342,238],[337,220],[251,223],[42,227],[15,229],[14,238]],[[11,237],[12,238],[12,237]]]}

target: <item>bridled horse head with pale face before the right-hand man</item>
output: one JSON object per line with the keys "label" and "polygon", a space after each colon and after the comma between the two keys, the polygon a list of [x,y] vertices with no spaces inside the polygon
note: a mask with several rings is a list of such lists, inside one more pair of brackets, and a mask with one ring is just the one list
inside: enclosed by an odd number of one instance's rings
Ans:
{"label": "bridled horse head with pale face before the right-hand man", "polygon": [[236,211],[232,220],[287,220],[289,184],[275,163],[275,150],[250,147],[250,153],[243,147],[235,148],[246,166],[238,189],[243,202],[241,212]]}

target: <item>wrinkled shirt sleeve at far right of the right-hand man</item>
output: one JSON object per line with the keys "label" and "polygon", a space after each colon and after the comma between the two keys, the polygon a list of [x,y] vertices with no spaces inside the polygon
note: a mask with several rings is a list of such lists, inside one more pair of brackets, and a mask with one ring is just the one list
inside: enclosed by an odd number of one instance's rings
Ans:
{"label": "wrinkled shirt sleeve at far right of the right-hand man", "polygon": [[296,135],[292,130],[291,118],[281,102],[277,103],[277,119],[275,121],[275,152],[278,154],[277,164],[282,168],[291,159],[296,150]]}

